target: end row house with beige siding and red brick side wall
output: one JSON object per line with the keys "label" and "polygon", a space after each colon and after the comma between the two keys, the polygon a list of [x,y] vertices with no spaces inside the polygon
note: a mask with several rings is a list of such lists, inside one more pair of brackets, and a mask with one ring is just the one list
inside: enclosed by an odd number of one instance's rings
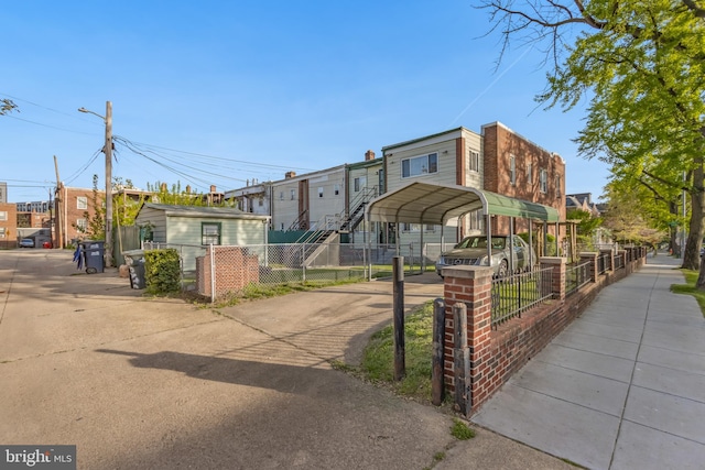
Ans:
{"label": "end row house with beige siding and red brick side wall", "polygon": [[[387,145],[382,153],[388,192],[415,181],[459,185],[551,206],[565,220],[565,162],[500,122],[482,125],[480,134],[460,127]],[[508,218],[494,218],[492,232],[509,232],[509,223]],[[514,232],[528,230],[528,223],[514,219]],[[485,230],[479,211],[448,225],[456,230],[446,230],[442,236],[440,227],[402,223],[388,242],[394,242],[394,237],[402,244],[416,241],[421,230],[427,242],[441,242],[442,237],[455,242]]]}

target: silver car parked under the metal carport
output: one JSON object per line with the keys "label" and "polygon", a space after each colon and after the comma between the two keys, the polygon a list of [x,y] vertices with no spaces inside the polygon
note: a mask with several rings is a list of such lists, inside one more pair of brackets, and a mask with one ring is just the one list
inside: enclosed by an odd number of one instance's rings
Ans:
{"label": "silver car parked under the metal carport", "polygon": [[[495,276],[509,274],[510,256],[513,259],[516,272],[525,271],[531,267],[531,262],[536,262],[535,252],[521,237],[514,236],[510,241],[509,236],[492,236],[490,243]],[[436,273],[443,276],[441,270],[454,265],[489,265],[487,262],[487,236],[466,237],[453,250],[442,253],[436,261]]]}

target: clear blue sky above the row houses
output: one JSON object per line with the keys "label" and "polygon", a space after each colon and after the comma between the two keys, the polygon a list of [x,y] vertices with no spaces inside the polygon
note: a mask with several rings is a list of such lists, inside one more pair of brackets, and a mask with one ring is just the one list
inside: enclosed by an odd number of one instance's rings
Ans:
{"label": "clear blue sky above the row houses", "polygon": [[[44,200],[62,181],[113,176],[242,187],[378,156],[386,145],[500,121],[566,161],[568,193],[603,192],[576,156],[577,109],[544,111],[542,56],[517,44],[496,69],[498,34],[473,1],[12,1],[0,10],[0,182],[8,200]],[[124,142],[124,141],[123,141]]]}

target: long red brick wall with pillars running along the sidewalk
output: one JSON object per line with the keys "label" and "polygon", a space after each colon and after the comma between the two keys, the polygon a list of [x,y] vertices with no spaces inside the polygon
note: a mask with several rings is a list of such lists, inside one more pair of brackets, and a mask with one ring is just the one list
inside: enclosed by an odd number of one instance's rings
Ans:
{"label": "long red brick wall with pillars running along the sidewalk", "polygon": [[[565,260],[556,258],[541,259],[542,267],[553,269],[552,286],[554,299],[538,308],[522,313],[491,326],[491,270],[488,267],[459,266],[447,267],[444,274],[445,299],[445,340],[444,340],[444,383],[446,390],[455,393],[455,370],[458,365],[454,358],[454,318],[453,305],[463,303],[467,307],[467,338],[469,349],[469,396],[465,408],[467,414],[476,412],[509,378],[521,369],[531,358],[541,351],[558,332],[589,306],[597,294],[607,285],[615,283],[634,270],[646,260],[646,249],[633,248],[617,253],[626,261],[625,269],[608,271],[582,287],[577,293],[565,295]],[[597,270],[597,254],[585,253],[585,259]],[[631,260],[631,261],[627,261]]]}

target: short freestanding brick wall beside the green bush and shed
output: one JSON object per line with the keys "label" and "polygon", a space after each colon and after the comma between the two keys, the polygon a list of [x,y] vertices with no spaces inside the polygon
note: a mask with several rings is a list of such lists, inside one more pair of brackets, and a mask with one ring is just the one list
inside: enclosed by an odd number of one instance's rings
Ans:
{"label": "short freestanding brick wall beside the green bush and shed", "polygon": [[[242,291],[248,284],[259,283],[259,261],[239,247],[214,247],[215,296]],[[212,296],[210,252],[196,258],[196,291]]]}

